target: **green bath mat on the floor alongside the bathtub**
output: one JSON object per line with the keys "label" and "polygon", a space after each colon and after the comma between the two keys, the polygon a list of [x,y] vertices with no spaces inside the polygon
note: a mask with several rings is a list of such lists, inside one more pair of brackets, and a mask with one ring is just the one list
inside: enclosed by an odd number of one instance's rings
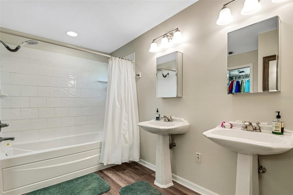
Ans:
{"label": "green bath mat on the floor alongside the bathtub", "polygon": [[110,189],[110,186],[98,174],[91,173],[66,182],[38,189],[27,195],[99,195]]}

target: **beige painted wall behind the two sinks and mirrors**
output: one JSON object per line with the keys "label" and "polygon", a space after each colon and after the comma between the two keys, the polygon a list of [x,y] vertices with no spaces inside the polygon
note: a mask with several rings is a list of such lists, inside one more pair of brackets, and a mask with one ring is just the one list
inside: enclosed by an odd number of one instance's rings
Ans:
{"label": "beige painted wall behind the two sinks and mirrors", "polygon": [[[216,25],[226,1],[198,1],[112,54],[118,57],[135,52],[139,121],[161,114],[183,117],[190,123],[187,134],[176,135],[171,149],[172,172],[218,194],[234,194],[237,153],[205,138],[202,133],[224,121],[247,120],[271,123],[281,111],[286,128],[293,129],[292,21],[293,1],[274,4],[260,1],[262,9],[242,16],[243,1],[231,6],[234,21]],[[282,21],[282,92],[227,95],[227,33],[279,15]],[[179,28],[184,42],[150,53],[151,41],[169,30]],[[173,51],[183,52],[183,97],[156,98],[156,57]],[[211,79],[212,78],[212,79]],[[156,135],[140,131],[141,158],[156,163]],[[195,162],[195,152],[202,163]],[[279,155],[260,156],[267,172],[259,176],[260,194],[292,194],[293,150]]]}

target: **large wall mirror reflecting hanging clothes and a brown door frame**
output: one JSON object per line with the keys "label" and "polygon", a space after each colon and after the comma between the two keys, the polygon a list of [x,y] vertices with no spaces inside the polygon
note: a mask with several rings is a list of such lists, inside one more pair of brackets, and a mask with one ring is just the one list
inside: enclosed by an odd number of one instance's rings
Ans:
{"label": "large wall mirror reflecting hanging clothes and a brown door frame", "polygon": [[278,16],[228,33],[228,94],[280,91]]}

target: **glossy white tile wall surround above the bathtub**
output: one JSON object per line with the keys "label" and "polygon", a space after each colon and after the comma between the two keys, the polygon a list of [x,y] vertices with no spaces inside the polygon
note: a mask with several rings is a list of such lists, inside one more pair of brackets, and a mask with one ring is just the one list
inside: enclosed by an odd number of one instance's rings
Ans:
{"label": "glossy white tile wall surround above the bathtub", "polygon": [[[13,46],[12,46],[13,47]],[[108,63],[1,45],[2,136],[15,142],[103,130]]]}

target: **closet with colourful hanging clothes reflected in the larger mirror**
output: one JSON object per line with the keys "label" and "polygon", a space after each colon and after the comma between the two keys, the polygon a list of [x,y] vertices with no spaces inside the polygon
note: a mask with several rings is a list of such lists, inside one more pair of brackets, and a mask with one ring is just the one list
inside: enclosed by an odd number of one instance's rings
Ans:
{"label": "closet with colourful hanging clothes reflected in the larger mirror", "polygon": [[228,94],[252,92],[252,66],[253,64],[245,64],[228,67]]}

